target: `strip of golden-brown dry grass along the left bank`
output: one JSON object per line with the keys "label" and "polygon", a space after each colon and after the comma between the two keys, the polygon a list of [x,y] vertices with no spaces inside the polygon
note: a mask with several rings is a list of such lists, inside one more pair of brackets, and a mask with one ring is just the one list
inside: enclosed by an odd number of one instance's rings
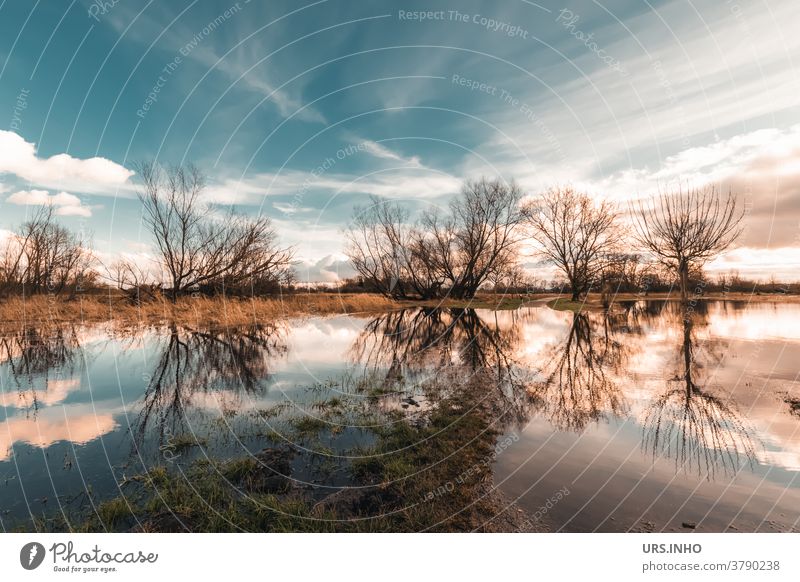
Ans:
{"label": "strip of golden-brown dry grass along the left bank", "polygon": [[183,297],[143,302],[136,306],[124,297],[83,295],[73,300],[47,296],[12,297],[0,302],[0,323],[47,325],[61,322],[192,325],[247,325],[305,315],[374,313],[398,308],[380,295],[310,293],[282,297],[224,299]]}

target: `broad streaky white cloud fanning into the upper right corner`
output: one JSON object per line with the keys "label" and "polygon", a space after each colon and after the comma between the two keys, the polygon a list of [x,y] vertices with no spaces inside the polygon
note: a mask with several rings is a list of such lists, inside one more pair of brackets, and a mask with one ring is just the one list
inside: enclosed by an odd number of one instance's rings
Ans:
{"label": "broad streaky white cloud fanning into the upper right corner", "polygon": [[[800,78],[792,55],[800,51],[794,34],[800,15],[790,3],[736,8],[719,3],[691,14],[674,0],[634,16],[615,13],[620,23],[597,37],[630,72],[624,79],[588,50],[544,67],[520,59],[546,89],[520,71],[495,79],[484,69],[479,80],[508,91],[541,123],[519,106],[486,97],[485,118],[499,131],[484,129],[479,150],[506,159],[524,155],[541,164],[543,175],[602,180],[765,125],[795,123]],[[551,43],[567,50],[570,40]]]}

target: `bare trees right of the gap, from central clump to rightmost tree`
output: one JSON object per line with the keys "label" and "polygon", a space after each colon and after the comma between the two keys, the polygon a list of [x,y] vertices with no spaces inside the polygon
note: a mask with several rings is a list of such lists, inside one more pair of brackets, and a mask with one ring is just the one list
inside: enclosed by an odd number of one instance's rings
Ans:
{"label": "bare trees right of the gap, from central clump to rightmost tree", "polygon": [[374,197],[358,208],[346,252],[361,278],[395,297],[472,297],[520,278],[521,243],[554,265],[577,300],[590,289],[647,290],[677,282],[684,300],[703,265],[742,231],[743,208],[716,188],[663,193],[632,207],[632,227],[611,202],[572,188],[530,200],[500,180],[467,181],[449,213],[416,222],[398,203]]}

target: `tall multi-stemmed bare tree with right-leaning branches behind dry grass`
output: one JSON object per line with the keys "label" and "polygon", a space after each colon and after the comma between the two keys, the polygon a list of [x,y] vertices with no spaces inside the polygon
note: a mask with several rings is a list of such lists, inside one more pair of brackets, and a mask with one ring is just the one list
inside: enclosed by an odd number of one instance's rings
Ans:
{"label": "tall multi-stemmed bare tree with right-leaning branches behind dry grass", "polygon": [[292,250],[278,246],[270,219],[229,211],[215,215],[201,198],[205,177],[191,164],[138,164],[145,224],[150,228],[173,301],[187,291],[263,288],[290,276]]}

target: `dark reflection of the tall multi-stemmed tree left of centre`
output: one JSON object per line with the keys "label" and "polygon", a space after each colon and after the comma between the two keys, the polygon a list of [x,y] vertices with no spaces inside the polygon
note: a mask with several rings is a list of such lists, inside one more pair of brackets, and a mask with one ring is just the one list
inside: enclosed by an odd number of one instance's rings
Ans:
{"label": "dark reflection of the tall multi-stemmed tree left of centre", "polygon": [[159,445],[186,432],[188,409],[199,397],[211,396],[222,407],[237,410],[243,394],[266,388],[272,358],[286,352],[282,328],[192,330],[170,325],[160,337],[158,363],[150,375],[136,423],[141,440],[153,428]]}

